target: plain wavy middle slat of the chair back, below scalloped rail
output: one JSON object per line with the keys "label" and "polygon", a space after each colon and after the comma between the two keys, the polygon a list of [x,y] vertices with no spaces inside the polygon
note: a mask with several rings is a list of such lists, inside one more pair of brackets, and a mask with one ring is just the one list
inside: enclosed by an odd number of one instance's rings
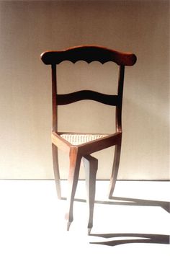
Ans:
{"label": "plain wavy middle slat of the chair back, below scalloped rail", "polygon": [[117,106],[118,96],[102,94],[90,90],[82,90],[79,92],[72,92],[69,94],[57,94],[57,105],[66,105],[79,100],[95,100],[106,105]]}

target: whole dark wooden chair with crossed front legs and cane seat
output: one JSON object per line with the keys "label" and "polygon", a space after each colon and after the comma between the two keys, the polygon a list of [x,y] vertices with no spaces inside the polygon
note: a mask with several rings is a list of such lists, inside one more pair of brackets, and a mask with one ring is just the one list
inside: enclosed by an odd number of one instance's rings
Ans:
{"label": "whole dark wooden chair with crossed front legs and cane seat", "polygon": [[[92,153],[115,146],[115,156],[112,167],[112,175],[109,185],[109,198],[117,180],[117,172],[120,163],[120,150],[122,141],[122,94],[125,66],[133,66],[136,62],[136,56],[133,53],[121,53],[116,50],[110,50],[97,45],[82,45],[66,50],[45,51],[41,54],[42,61],[52,67],[52,91],[53,91],[53,169],[58,198],[61,198],[60,174],[58,167],[58,149],[69,153],[70,169],[68,172],[68,212],[66,213],[67,229],[73,221],[73,200],[76,193],[76,186],[79,179],[79,168],[81,159],[84,161],[86,169],[87,201],[89,205],[89,224],[90,233],[93,225],[93,209],[95,195],[95,180],[98,161]],[[81,90],[69,94],[57,93],[56,66],[62,61],[99,61],[106,63],[113,61],[119,66],[119,80],[117,95],[102,94],[91,90]],[[58,105],[67,105],[79,100],[95,100],[97,102],[116,107],[116,128],[112,134],[84,134],[84,133],[66,133],[58,131]]]}

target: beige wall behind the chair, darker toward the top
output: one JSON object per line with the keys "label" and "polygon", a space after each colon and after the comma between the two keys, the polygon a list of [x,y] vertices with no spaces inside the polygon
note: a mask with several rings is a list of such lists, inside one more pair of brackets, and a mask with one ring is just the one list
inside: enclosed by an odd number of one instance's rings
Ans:
{"label": "beige wall behind the chair, darker toward the top", "polygon": [[[0,178],[53,178],[50,67],[40,61],[40,53],[81,44],[138,56],[125,73],[119,178],[169,179],[169,1],[164,0],[0,1]],[[59,80],[60,92],[77,89],[79,74],[87,89],[97,79],[100,91],[114,92],[111,63],[94,63],[93,71],[87,66],[79,63],[78,71],[62,63],[58,74],[67,75]],[[70,82],[67,87],[64,81]],[[93,131],[113,131],[110,107],[77,104],[60,110],[61,129],[73,130],[71,110],[83,110],[79,119],[85,122],[76,129],[89,131],[88,115]],[[92,118],[92,106],[98,120]],[[112,151],[97,154],[98,178],[109,178]],[[67,177],[64,163],[62,177]]]}

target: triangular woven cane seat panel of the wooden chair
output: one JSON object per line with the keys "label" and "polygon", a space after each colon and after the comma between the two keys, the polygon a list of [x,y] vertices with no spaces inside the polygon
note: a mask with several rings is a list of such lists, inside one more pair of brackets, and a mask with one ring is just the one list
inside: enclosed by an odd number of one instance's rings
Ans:
{"label": "triangular woven cane seat panel of the wooden chair", "polygon": [[63,133],[61,137],[64,138],[72,145],[80,145],[89,141],[97,140],[98,138],[104,138],[107,134],[70,134]]}

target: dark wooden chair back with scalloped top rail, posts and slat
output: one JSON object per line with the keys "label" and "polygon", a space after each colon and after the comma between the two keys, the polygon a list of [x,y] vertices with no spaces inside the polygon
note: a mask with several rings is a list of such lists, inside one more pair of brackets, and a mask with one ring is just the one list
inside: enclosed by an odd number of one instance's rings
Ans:
{"label": "dark wooden chair back with scalloped top rail, posts and slat", "polygon": [[[79,100],[95,100],[106,105],[116,107],[116,131],[122,131],[122,94],[125,74],[125,66],[133,66],[136,56],[133,53],[122,53],[117,50],[104,48],[98,45],[81,45],[66,50],[45,51],[41,59],[46,65],[52,67],[52,91],[53,91],[53,131],[57,132],[57,106],[67,105]],[[115,62],[119,66],[119,79],[117,94],[103,94],[92,90],[81,90],[68,94],[57,93],[56,66],[62,61],[99,61],[104,64],[108,61]]]}

